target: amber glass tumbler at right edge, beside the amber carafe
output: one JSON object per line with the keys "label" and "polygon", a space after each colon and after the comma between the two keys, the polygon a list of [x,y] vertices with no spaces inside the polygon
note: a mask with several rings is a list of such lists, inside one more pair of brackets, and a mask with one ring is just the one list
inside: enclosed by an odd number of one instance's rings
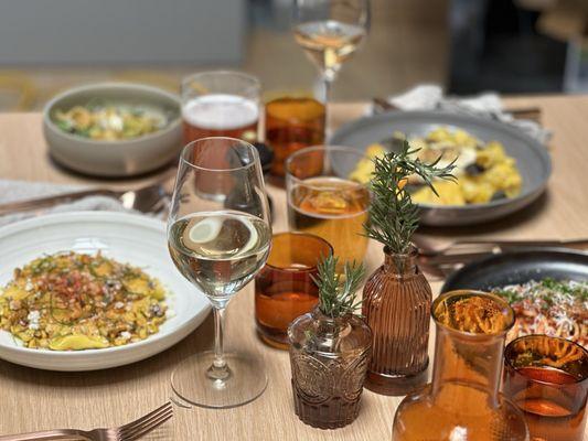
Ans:
{"label": "amber glass tumbler at right edge, beside the amber carafe", "polygon": [[511,342],[503,390],[524,412],[533,441],[585,439],[588,351],[582,346],[546,335]]}

